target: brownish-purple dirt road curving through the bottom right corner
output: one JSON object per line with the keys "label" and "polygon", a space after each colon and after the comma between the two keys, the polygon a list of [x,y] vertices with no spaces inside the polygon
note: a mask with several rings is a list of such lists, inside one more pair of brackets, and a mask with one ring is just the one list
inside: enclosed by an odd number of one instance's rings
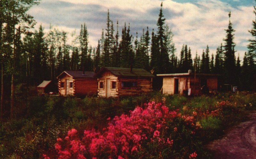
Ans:
{"label": "brownish-purple dirt road curving through the bottom right corner", "polygon": [[210,142],[207,147],[216,159],[256,159],[256,112],[249,121],[227,130],[222,139]]}

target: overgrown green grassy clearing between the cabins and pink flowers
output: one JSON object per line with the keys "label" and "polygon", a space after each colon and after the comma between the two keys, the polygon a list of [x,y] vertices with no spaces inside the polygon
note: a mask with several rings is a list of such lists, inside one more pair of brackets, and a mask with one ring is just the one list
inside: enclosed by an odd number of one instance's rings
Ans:
{"label": "overgrown green grassy clearing between the cabins and pink flowers", "polygon": [[[69,129],[75,128],[80,134],[85,129],[101,130],[107,125],[108,117],[127,114],[150,101],[164,102],[170,110],[194,116],[201,128],[193,140],[196,143],[191,144],[197,145],[198,157],[208,158],[210,155],[202,145],[218,138],[225,128],[245,120],[246,112],[256,108],[255,97],[253,93],[184,97],[158,92],[123,99],[33,96],[17,119],[0,123],[0,158],[39,158],[49,153],[49,149],[54,151],[56,139],[64,137]],[[177,126],[182,128],[182,124]],[[189,138],[186,134],[181,131],[177,143],[185,145]],[[178,150],[175,152],[179,153]]]}

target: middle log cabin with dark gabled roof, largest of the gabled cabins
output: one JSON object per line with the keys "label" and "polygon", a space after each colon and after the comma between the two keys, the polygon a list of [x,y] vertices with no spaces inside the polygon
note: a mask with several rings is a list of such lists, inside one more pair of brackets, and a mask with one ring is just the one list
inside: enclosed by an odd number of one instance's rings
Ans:
{"label": "middle log cabin with dark gabled roof, largest of the gabled cabins", "polygon": [[138,68],[103,67],[94,77],[98,97],[122,97],[151,92],[154,75]]}

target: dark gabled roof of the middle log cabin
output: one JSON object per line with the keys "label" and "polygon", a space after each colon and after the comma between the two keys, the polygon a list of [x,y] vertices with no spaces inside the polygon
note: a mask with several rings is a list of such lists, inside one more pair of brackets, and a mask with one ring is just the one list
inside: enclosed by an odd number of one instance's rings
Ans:
{"label": "dark gabled roof of the middle log cabin", "polygon": [[99,77],[105,71],[111,72],[115,76],[128,76],[128,77],[155,77],[153,74],[142,68],[122,68],[122,67],[103,67],[100,71],[95,74],[95,77]]}

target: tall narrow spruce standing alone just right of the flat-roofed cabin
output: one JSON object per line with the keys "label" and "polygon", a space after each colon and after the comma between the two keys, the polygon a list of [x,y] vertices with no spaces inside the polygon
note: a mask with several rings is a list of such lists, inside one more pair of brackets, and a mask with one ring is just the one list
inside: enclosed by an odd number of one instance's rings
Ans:
{"label": "tall narrow spruce standing alone just right of the flat-roofed cabin", "polygon": [[225,82],[228,84],[236,84],[236,61],[235,61],[235,50],[234,47],[236,44],[233,42],[235,30],[232,27],[232,23],[230,21],[231,12],[228,13],[229,23],[228,29],[225,29],[227,35],[226,38],[223,39],[225,41],[224,45],[224,71],[225,71]]}

